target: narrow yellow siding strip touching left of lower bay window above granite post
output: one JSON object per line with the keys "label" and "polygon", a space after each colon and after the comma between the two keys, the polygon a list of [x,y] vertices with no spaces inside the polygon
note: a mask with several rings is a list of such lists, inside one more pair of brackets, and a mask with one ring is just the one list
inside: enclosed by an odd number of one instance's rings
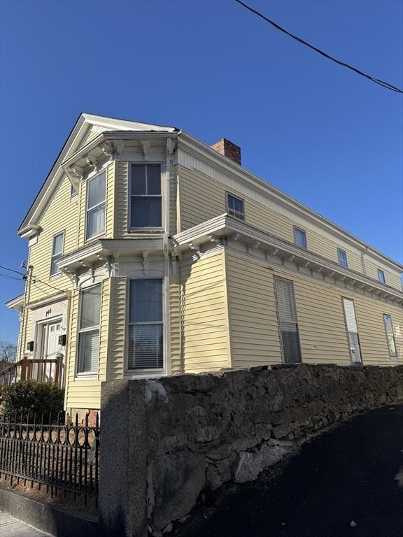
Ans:
{"label": "narrow yellow siding strip touching left of lower bay window above granite post", "polygon": [[111,317],[108,380],[119,380],[125,371],[126,278],[111,278]]}

